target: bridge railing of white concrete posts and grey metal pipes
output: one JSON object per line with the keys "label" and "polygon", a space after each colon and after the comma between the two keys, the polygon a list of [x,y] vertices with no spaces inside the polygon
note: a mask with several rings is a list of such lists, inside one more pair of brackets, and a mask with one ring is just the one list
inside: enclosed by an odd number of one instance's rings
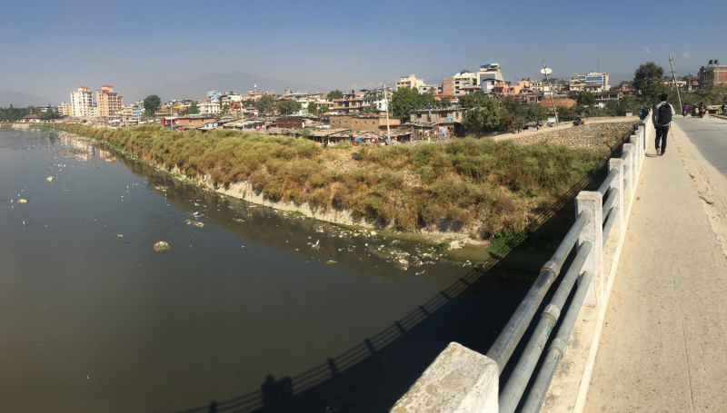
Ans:
{"label": "bridge railing of white concrete posts and grey metal pipes", "polygon": [[[433,411],[432,408],[435,408],[441,412],[512,413],[518,406],[521,406],[521,412],[541,411],[579,312],[583,306],[603,307],[603,301],[607,298],[607,278],[612,277],[618,257],[616,262],[609,264],[612,268],[604,270],[604,247],[611,240],[609,237],[617,237],[616,233],[619,239],[616,242],[622,242],[622,233],[626,229],[624,211],[630,205],[641,172],[650,125],[651,119],[647,118],[632,136],[624,140],[622,156],[609,161],[608,176],[598,191],[583,191],[578,194],[575,199],[576,221],[573,227],[565,235],[551,260],[545,262],[538,278],[495,339],[486,357],[452,343],[394,405],[393,412],[414,412],[422,408]],[[575,258],[565,271],[553,298],[540,315],[510,377],[502,390],[498,391],[499,375],[530,327],[546,293],[560,276],[573,247],[576,249]],[[576,289],[573,300],[564,309],[573,288]],[[557,333],[552,338],[559,320]],[[600,329],[597,331],[600,334]],[[535,371],[543,350],[546,350],[545,359],[540,369]],[[590,372],[583,374],[589,375]],[[521,403],[533,376],[533,385]],[[453,381],[453,377],[459,379]]]}

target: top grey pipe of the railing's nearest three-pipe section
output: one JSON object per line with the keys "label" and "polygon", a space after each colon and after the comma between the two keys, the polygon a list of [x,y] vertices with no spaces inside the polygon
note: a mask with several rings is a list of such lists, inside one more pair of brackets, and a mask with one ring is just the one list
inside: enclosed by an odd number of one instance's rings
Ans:
{"label": "top grey pipe of the railing's nearest three-pipe section", "polygon": [[525,330],[530,325],[530,321],[533,320],[535,311],[538,310],[541,301],[545,293],[553,284],[553,280],[558,277],[563,267],[563,262],[571,253],[575,241],[581,235],[585,224],[591,219],[592,212],[585,210],[581,211],[578,215],[578,219],[573,223],[573,226],[565,234],[565,238],[561,241],[561,245],[553,253],[551,260],[543,265],[543,269],[538,276],[538,279],[533,283],[533,287],[528,290],[527,295],[521,301],[520,305],[513,313],[513,317],[507,321],[503,331],[495,339],[493,346],[487,351],[487,357],[497,362],[497,366],[500,368],[500,373],[503,373],[503,369],[507,364],[507,361],[513,355],[513,351],[520,339],[523,338]]}

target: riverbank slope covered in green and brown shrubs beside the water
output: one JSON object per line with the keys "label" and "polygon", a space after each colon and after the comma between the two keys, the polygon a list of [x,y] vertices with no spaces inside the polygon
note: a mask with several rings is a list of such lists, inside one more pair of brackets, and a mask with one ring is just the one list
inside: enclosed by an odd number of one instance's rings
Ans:
{"label": "riverbank slope covered in green and brown shrubs beside the water", "polygon": [[[322,221],[486,240],[543,221],[607,152],[463,139],[323,148],[287,136],[53,125],[217,192]],[[361,160],[352,159],[352,153]],[[572,196],[571,196],[572,198]]]}

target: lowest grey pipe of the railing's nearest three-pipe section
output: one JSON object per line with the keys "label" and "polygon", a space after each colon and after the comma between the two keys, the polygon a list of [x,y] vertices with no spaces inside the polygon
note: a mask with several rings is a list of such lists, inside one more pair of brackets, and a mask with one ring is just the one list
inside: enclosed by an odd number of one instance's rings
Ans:
{"label": "lowest grey pipe of the railing's nearest three-pipe section", "polygon": [[530,388],[530,392],[528,392],[525,398],[521,413],[538,413],[543,407],[545,394],[548,392],[548,388],[551,387],[555,369],[558,368],[558,364],[563,359],[563,354],[565,354],[565,349],[568,347],[568,339],[571,338],[575,320],[578,320],[578,314],[581,312],[583,300],[585,299],[585,294],[588,292],[588,287],[591,285],[591,280],[593,280],[593,272],[583,271],[578,289],[575,290],[571,305],[568,306],[565,317],[563,317],[563,321],[561,322],[561,327],[558,328],[558,333],[555,334],[555,339],[553,339],[553,343],[551,344],[552,347],[545,353],[543,366],[541,366],[538,376],[533,383],[533,387]]}

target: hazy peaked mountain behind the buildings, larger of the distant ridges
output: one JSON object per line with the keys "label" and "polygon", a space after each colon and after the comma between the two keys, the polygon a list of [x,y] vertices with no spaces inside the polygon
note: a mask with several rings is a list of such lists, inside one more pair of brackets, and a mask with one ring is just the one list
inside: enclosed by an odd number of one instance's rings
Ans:
{"label": "hazy peaked mountain behind the buildings, larger of the distant ridges", "polygon": [[[157,94],[162,98],[162,102],[170,99],[201,99],[207,95],[208,91],[216,90],[218,92],[234,92],[244,93],[255,88],[262,91],[275,91],[282,93],[285,88],[289,88],[294,92],[308,93],[327,93],[331,88],[321,86],[320,84],[301,84],[296,82],[284,82],[277,79],[270,79],[257,74],[248,74],[243,71],[235,71],[230,74],[204,74],[186,82],[177,82],[174,84],[164,84],[164,86],[144,91],[144,93],[129,93],[129,97],[134,100],[127,101],[124,95],[124,103],[135,102],[144,99],[150,94]],[[138,96],[134,96],[139,94]]]}

